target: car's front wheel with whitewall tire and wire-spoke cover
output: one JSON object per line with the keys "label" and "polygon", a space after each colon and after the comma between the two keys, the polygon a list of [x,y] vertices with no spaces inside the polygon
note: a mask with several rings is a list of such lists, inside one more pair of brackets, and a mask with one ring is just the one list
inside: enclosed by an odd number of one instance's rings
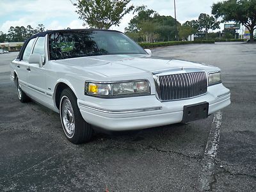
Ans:
{"label": "car's front wheel with whitewall tire and wire-spoke cover", "polygon": [[89,141],[92,138],[92,127],[84,121],[77,106],[76,95],[67,88],[60,98],[61,125],[67,139],[74,144]]}

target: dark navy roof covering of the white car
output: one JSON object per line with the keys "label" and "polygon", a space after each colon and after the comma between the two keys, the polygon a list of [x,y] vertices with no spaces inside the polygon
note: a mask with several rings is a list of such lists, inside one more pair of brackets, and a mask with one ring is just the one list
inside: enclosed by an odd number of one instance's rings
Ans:
{"label": "dark navy roof covering of the white car", "polygon": [[25,47],[27,46],[29,40],[36,38],[38,36],[45,36],[47,34],[52,34],[52,33],[64,33],[64,32],[81,32],[81,31],[114,31],[114,32],[118,32],[118,33],[122,33],[120,31],[115,31],[115,30],[108,30],[108,29],[59,29],[59,30],[48,30],[48,31],[44,31],[44,32],[40,32],[40,33],[36,33],[33,36],[30,36],[22,45],[19,55],[17,56],[17,60],[22,60],[22,55],[23,52],[25,51]]}

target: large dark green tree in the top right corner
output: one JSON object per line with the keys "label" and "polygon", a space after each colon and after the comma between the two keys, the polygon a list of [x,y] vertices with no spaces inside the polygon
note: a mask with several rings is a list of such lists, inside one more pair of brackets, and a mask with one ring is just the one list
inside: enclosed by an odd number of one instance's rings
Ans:
{"label": "large dark green tree in the top right corner", "polygon": [[240,22],[250,31],[250,41],[253,41],[253,31],[256,29],[256,0],[228,0],[212,4],[212,14],[223,22]]}

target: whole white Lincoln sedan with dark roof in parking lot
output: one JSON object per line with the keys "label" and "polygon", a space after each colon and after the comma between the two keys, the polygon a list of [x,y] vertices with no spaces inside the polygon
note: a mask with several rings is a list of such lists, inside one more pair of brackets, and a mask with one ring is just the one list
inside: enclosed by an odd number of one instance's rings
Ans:
{"label": "whole white Lincoln sedan with dark roof in parking lot", "polygon": [[119,31],[38,33],[11,68],[20,102],[33,99],[60,113],[65,136],[76,144],[89,141],[93,127],[186,124],[230,104],[220,68],[154,58]]}

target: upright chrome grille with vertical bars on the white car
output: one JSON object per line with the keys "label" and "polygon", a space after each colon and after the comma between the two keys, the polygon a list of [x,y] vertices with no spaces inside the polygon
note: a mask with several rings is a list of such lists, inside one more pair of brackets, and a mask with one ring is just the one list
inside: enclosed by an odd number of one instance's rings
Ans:
{"label": "upright chrome grille with vertical bars on the white car", "polygon": [[207,92],[205,72],[190,72],[158,76],[155,79],[159,100],[186,99]]}

